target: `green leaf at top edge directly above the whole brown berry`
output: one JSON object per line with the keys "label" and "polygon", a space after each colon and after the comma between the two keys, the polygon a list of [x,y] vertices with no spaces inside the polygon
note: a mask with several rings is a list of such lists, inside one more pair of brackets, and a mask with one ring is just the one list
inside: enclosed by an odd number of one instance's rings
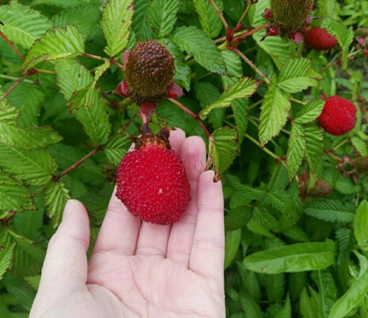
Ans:
{"label": "green leaf at top edge directly above the whole brown berry", "polygon": [[147,12],[153,34],[160,38],[170,34],[176,22],[179,0],[153,0]]}

